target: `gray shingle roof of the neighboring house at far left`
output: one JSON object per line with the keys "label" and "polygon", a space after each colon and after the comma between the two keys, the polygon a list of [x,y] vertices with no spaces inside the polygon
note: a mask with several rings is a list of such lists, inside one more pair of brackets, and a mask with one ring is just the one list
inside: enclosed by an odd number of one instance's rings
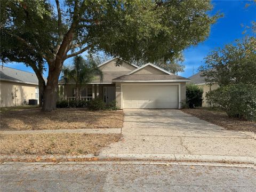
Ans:
{"label": "gray shingle roof of the neighboring house at far left", "polygon": [[[36,74],[10,67],[0,67],[1,81],[10,81],[38,85]],[[44,78],[46,80],[46,78]]]}

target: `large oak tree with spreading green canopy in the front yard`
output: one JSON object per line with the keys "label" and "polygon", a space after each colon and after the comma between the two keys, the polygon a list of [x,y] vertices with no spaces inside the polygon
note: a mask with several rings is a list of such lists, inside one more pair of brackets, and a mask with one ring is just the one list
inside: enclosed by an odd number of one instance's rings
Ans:
{"label": "large oak tree with spreading green canopy in the front yard", "polygon": [[42,110],[51,111],[66,59],[104,51],[128,61],[172,61],[209,35],[218,18],[210,10],[210,1],[1,1],[1,58],[31,66],[39,82],[48,66]]}

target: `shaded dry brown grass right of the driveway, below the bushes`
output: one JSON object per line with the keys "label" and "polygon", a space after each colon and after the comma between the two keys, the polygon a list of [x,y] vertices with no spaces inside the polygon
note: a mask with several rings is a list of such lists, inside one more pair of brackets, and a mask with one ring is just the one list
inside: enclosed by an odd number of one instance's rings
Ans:
{"label": "shaded dry brown grass right of the driveway, below the bushes", "polygon": [[251,131],[256,133],[256,122],[246,121],[228,117],[223,111],[214,111],[207,109],[182,109],[185,113],[194,115],[207,122],[224,127],[227,130]]}

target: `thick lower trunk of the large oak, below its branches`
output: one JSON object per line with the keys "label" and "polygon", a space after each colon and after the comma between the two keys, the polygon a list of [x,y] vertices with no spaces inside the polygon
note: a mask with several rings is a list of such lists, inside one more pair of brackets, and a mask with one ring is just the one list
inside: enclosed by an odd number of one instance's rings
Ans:
{"label": "thick lower trunk of the large oak, below its branches", "polygon": [[[54,63],[55,64],[55,63]],[[56,65],[55,65],[56,66]],[[58,95],[58,82],[62,64],[60,67],[50,67],[47,77],[47,84],[43,92],[43,107],[42,111],[52,111],[56,109],[56,101]]]}

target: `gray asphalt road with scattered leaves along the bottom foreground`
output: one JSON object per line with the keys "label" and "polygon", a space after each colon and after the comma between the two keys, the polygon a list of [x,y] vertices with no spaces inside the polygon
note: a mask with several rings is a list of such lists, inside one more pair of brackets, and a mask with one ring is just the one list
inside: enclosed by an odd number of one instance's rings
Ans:
{"label": "gray asphalt road with scattered leaves along the bottom foreground", "polygon": [[250,167],[1,164],[2,191],[255,191]]}

